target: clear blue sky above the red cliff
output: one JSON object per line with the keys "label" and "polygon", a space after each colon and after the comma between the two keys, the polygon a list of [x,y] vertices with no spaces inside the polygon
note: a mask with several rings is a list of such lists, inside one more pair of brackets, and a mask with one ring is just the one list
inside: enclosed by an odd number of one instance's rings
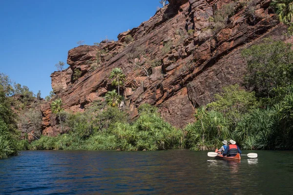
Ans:
{"label": "clear blue sky above the red cliff", "polygon": [[152,17],[158,1],[0,0],[0,72],[44,98],[52,90],[54,64],[66,63],[77,41],[117,40]]}

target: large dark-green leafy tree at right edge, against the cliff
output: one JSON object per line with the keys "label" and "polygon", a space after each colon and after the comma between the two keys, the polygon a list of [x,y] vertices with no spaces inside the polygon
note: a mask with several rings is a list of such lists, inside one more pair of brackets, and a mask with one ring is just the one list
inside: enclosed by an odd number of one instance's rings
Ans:
{"label": "large dark-green leafy tree at right edge, against the cliff", "polygon": [[293,51],[291,44],[265,39],[263,43],[245,49],[247,59],[246,84],[254,87],[259,97],[272,98],[274,89],[292,84]]}

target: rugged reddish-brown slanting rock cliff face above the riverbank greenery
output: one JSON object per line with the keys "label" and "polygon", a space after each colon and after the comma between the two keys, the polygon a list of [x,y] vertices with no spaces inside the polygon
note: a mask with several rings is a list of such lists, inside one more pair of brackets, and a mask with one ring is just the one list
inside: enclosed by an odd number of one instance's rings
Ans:
{"label": "rugged reddish-brown slanting rock cliff face above the riverbank greenery", "polygon": [[[224,17],[227,22],[216,28],[215,13],[233,2],[169,0],[151,19],[118,35],[118,41],[70,50],[70,67],[51,75],[54,92],[65,110],[82,112],[113,89],[109,74],[120,67],[126,75],[121,93],[131,118],[137,117],[139,105],[149,103],[172,125],[184,127],[193,121],[197,106],[209,103],[223,86],[241,83],[243,48],[267,37],[292,42],[283,36],[286,28],[278,24],[270,0],[239,0],[233,14]],[[43,134],[55,136],[61,130],[49,104],[42,106]]]}

